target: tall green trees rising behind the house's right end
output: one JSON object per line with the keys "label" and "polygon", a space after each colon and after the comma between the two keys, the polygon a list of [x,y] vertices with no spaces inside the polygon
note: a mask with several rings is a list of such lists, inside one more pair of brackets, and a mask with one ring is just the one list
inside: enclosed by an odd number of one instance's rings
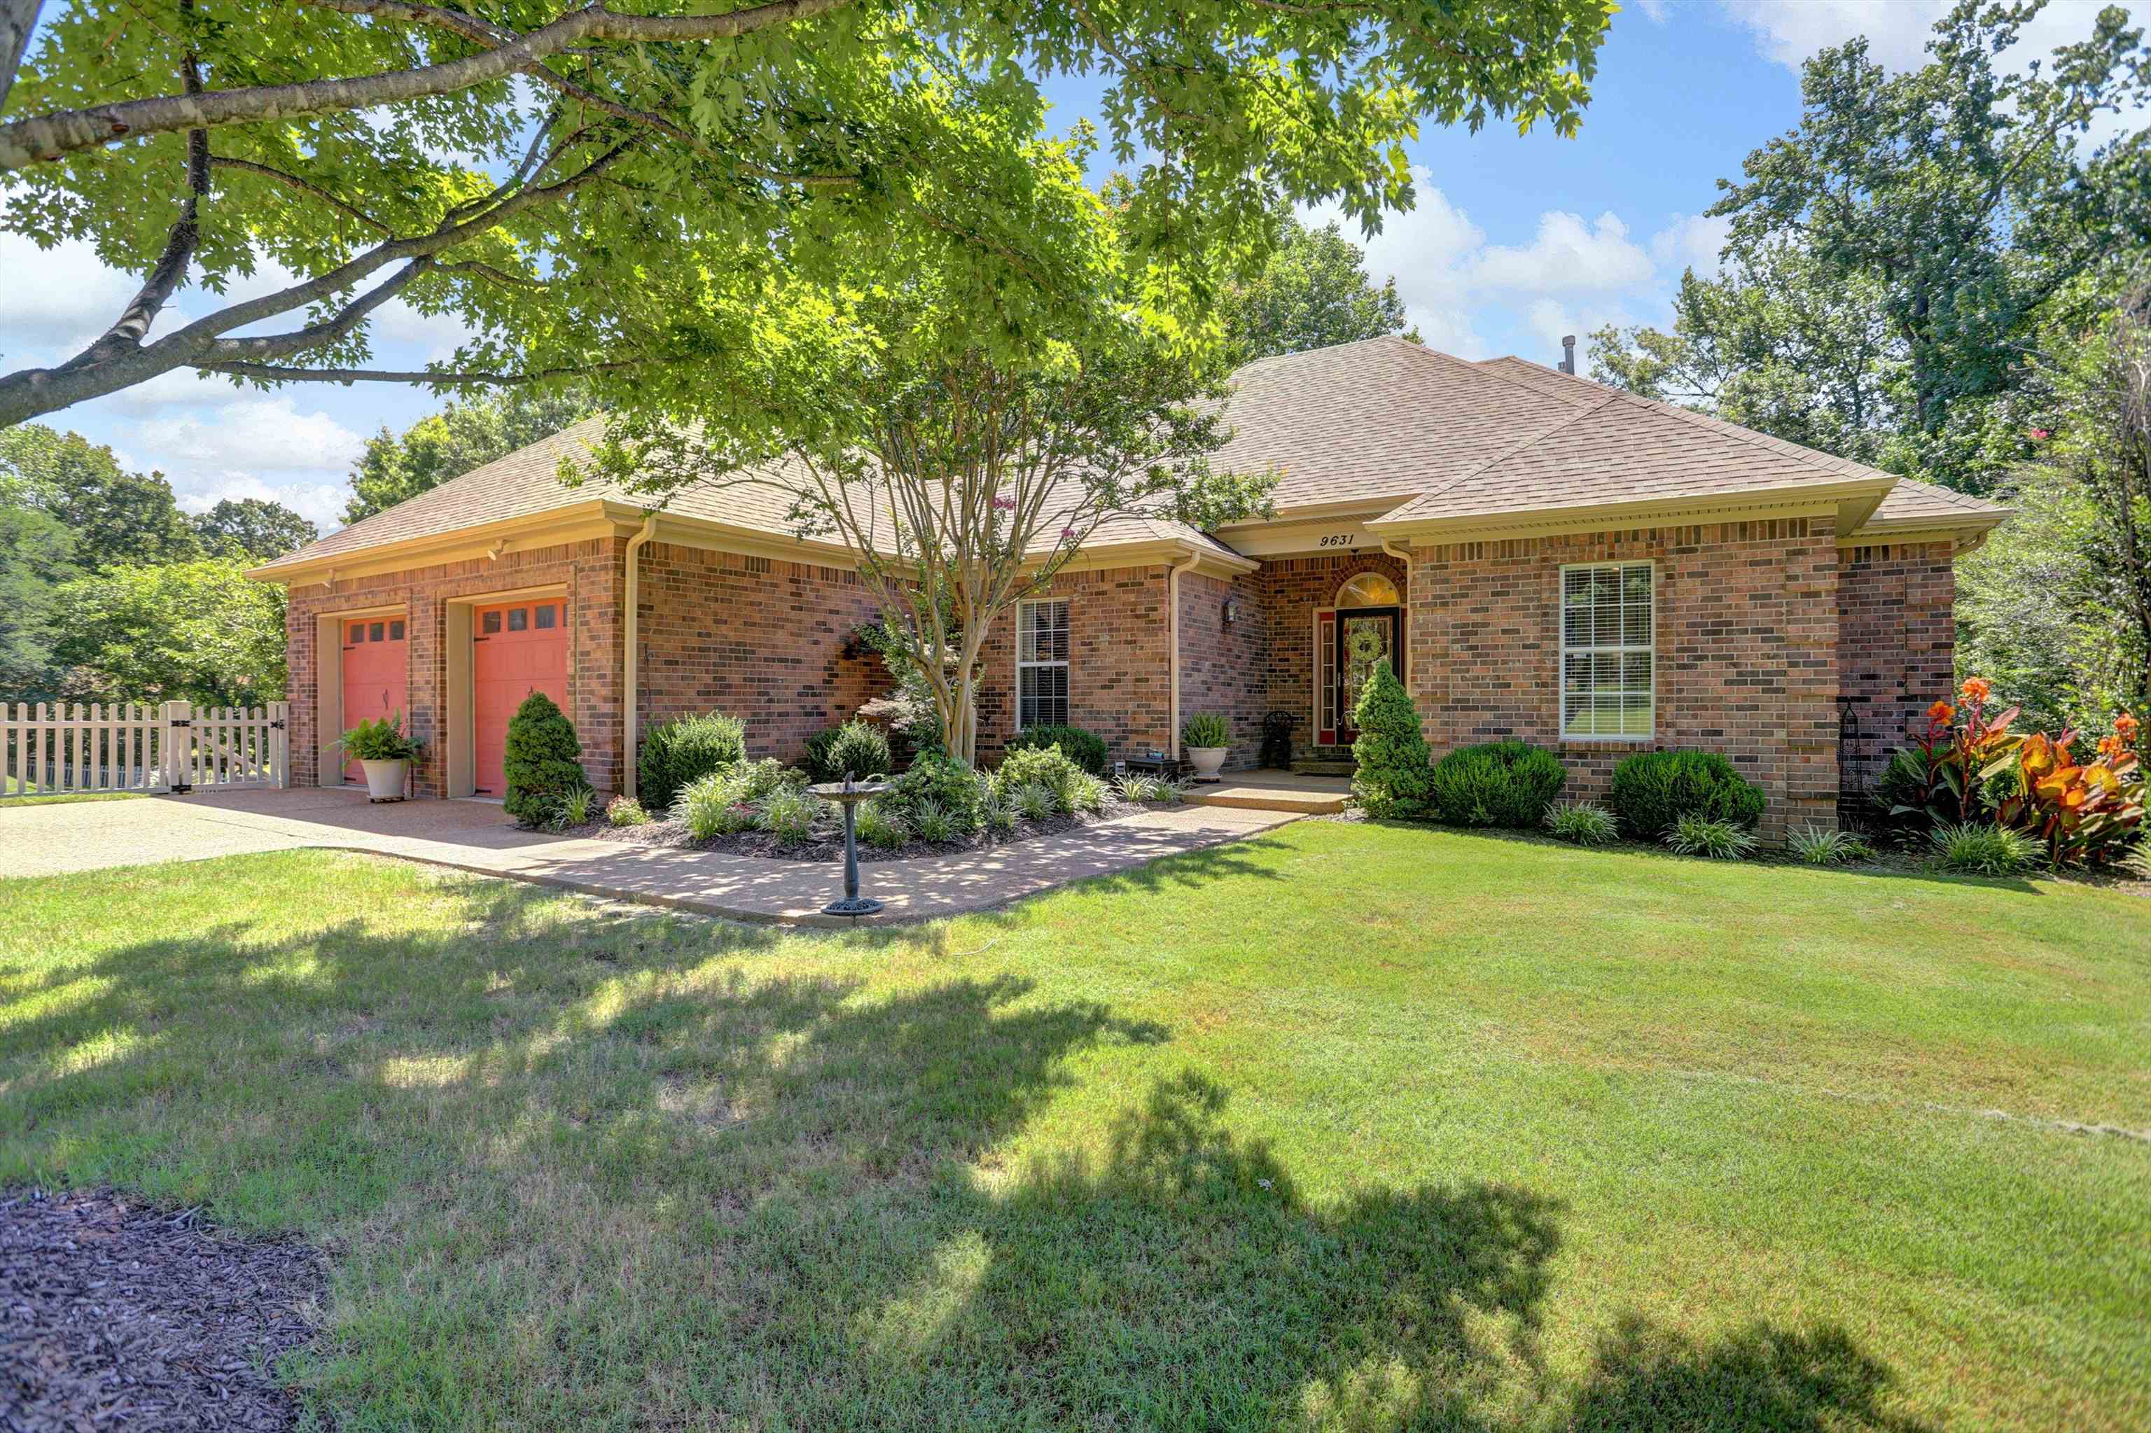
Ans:
{"label": "tall green trees rising behind the house's right end", "polygon": [[1594,334],[1592,377],[2015,506],[1957,564],[1960,673],[2104,732],[2151,706],[2151,129],[2091,131],[2151,49],[2108,6],[2003,69],[2039,9],[1964,0],[1906,73],[1815,54],[1800,125],[1719,181],[1719,271]]}

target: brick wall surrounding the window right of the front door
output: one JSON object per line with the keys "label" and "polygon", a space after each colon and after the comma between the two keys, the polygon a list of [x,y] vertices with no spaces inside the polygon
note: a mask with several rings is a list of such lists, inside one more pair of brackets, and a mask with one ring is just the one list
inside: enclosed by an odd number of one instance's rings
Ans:
{"label": "brick wall surrounding the window right of the front door", "polygon": [[1521,736],[1600,794],[1641,747],[1559,740],[1559,568],[1639,559],[1658,568],[1654,744],[1732,757],[1770,794],[1766,839],[1835,824],[1837,540],[1818,519],[1415,549],[1405,641],[1435,753]]}

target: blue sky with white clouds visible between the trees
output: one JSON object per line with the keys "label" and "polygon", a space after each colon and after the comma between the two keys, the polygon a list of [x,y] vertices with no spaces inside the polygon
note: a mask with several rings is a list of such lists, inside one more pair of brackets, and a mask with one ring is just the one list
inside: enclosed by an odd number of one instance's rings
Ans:
{"label": "blue sky with white clouds visible between the trees", "polygon": [[[2084,37],[2099,4],[2054,0],[2020,52]],[[1465,357],[1553,361],[1562,334],[1663,323],[1682,267],[1716,260],[1723,228],[1699,217],[1716,181],[1798,120],[1800,58],[1867,34],[1880,60],[1917,65],[1947,9],[1949,0],[1633,2],[1613,19],[1581,133],[1424,133],[1411,148],[1418,204],[1366,239],[1368,267],[1396,275],[1426,342]],[[1065,101],[1056,118],[1080,112],[1080,88],[1069,86]],[[24,273],[34,282],[19,284]],[[13,235],[0,235],[0,275],[9,275],[6,368],[65,357],[136,288],[84,247],[39,254]],[[206,308],[185,290],[176,308],[189,299]],[[458,338],[454,325],[409,310],[387,312],[374,336],[387,368],[447,357]],[[191,510],[219,497],[275,497],[329,527],[361,441],[437,407],[424,389],[379,383],[262,394],[166,374],[43,422],[112,443],[131,467],[161,469]]]}

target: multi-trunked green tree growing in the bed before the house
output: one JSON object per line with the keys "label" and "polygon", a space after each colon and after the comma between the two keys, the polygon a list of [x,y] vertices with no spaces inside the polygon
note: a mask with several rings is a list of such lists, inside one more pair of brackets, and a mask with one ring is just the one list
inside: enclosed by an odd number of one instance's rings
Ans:
{"label": "multi-trunked green tree growing in the bed before the house", "polygon": [[587,465],[663,501],[759,488],[800,538],[847,549],[899,658],[931,693],[951,755],[979,751],[979,652],[1101,527],[1211,529],[1267,514],[1276,473],[1228,473],[1222,351],[1144,303],[1121,219],[1082,185],[1078,146],[1039,146],[1030,219],[1088,275],[1050,329],[981,323],[966,271],[899,290],[789,295],[723,381],[673,370],[680,420],[619,413]]}

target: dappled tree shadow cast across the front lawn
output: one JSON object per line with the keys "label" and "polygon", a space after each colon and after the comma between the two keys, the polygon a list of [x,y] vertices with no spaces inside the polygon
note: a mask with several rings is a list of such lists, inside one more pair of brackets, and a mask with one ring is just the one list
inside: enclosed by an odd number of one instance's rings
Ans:
{"label": "dappled tree shadow cast across the front lawn", "polygon": [[[1456,1179],[1310,1198],[1159,1078],[1101,1138],[1000,1153],[1170,1033],[1026,977],[888,994],[697,973],[772,932],[471,882],[450,936],[144,940],[0,1033],[0,1138],[331,1239],[325,1414],[383,1427],[1897,1427],[1837,1330],[1624,1319],[1540,1351],[1559,1201]],[[839,936],[837,940],[850,940]],[[875,936],[878,945],[886,936]],[[426,998],[404,985],[430,979]],[[675,979],[680,977],[680,979]],[[19,985],[17,985],[19,990]],[[131,1140],[125,1153],[116,1134]],[[88,1153],[101,1151],[101,1153]]]}

